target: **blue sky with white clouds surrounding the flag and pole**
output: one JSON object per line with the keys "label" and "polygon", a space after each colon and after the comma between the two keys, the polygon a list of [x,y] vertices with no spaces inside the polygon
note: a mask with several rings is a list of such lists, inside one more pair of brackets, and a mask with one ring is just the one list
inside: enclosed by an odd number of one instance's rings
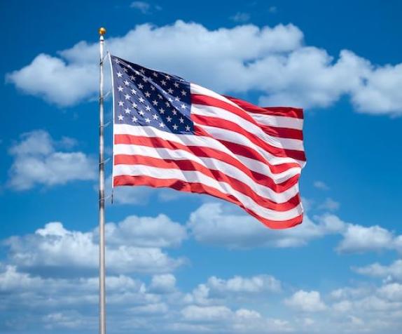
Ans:
{"label": "blue sky with white clouds surrounding the flag and pole", "polygon": [[[303,107],[307,154],[305,222],[286,231],[207,196],[116,189],[109,331],[398,333],[399,1],[0,6],[1,333],[97,329],[102,25],[122,58],[256,104]],[[111,120],[110,99],[105,107]]]}

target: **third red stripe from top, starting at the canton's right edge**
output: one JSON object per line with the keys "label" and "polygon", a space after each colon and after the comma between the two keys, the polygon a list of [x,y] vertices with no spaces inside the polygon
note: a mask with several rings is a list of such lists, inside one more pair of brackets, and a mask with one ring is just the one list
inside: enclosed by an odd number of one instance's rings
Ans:
{"label": "third red stripe from top, starting at the canton's right edge", "polygon": [[[281,158],[290,157],[300,161],[305,161],[305,153],[303,151],[298,151],[296,149],[281,149],[279,147],[269,145],[268,142],[261,140],[261,138],[258,138],[253,133],[249,133],[249,131],[246,131],[244,128],[232,121],[227,121],[226,119],[219,119],[212,116],[201,116],[195,114],[191,115],[191,119],[195,121],[195,123],[198,123],[200,125],[213,126],[214,128],[223,128],[230,131],[235,131],[236,133],[240,133],[241,135],[244,135],[244,137],[247,137],[249,140],[251,140],[251,142],[253,142],[255,145],[261,147],[261,149],[274,156],[278,156]],[[212,137],[212,135],[210,136]],[[215,139],[219,140],[217,138]]]}

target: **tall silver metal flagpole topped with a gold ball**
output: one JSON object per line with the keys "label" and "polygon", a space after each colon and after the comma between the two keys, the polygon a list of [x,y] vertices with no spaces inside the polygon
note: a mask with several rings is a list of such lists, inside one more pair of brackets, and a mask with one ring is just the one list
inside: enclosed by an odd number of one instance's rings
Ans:
{"label": "tall silver metal flagpole topped with a gold ball", "polygon": [[99,334],[106,334],[104,248],[104,34],[99,28]]}

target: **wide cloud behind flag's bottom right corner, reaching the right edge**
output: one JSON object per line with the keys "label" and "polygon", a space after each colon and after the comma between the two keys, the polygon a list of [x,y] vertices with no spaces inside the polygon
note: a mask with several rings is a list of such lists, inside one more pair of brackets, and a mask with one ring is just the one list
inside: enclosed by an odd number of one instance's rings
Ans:
{"label": "wide cloud behind flag's bottom right corner, reaching the right edge", "polygon": [[[324,202],[325,203],[325,202]],[[338,204],[326,210],[335,210]],[[322,207],[321,207],[322,208]],[[341,237],[336,250],[339,253],[368,251],[402,251],[402,236],[379,226],[365,227],[344,222],[333,213],[305,215],[303,224],[291,229],[267,229],[249,215],[223,203],[205,203],[190,214],[187,222],[195,240],[228,248],[299,247],[327,235]]]}

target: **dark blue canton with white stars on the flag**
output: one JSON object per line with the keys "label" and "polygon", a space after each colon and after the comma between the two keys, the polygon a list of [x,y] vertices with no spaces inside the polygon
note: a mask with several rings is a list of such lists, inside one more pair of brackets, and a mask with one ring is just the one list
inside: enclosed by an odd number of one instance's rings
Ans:
{"label": "dark blue canton with white stars on the flag", "polygon": [[193,133],[190,83],[111,55],[114,122]]}

